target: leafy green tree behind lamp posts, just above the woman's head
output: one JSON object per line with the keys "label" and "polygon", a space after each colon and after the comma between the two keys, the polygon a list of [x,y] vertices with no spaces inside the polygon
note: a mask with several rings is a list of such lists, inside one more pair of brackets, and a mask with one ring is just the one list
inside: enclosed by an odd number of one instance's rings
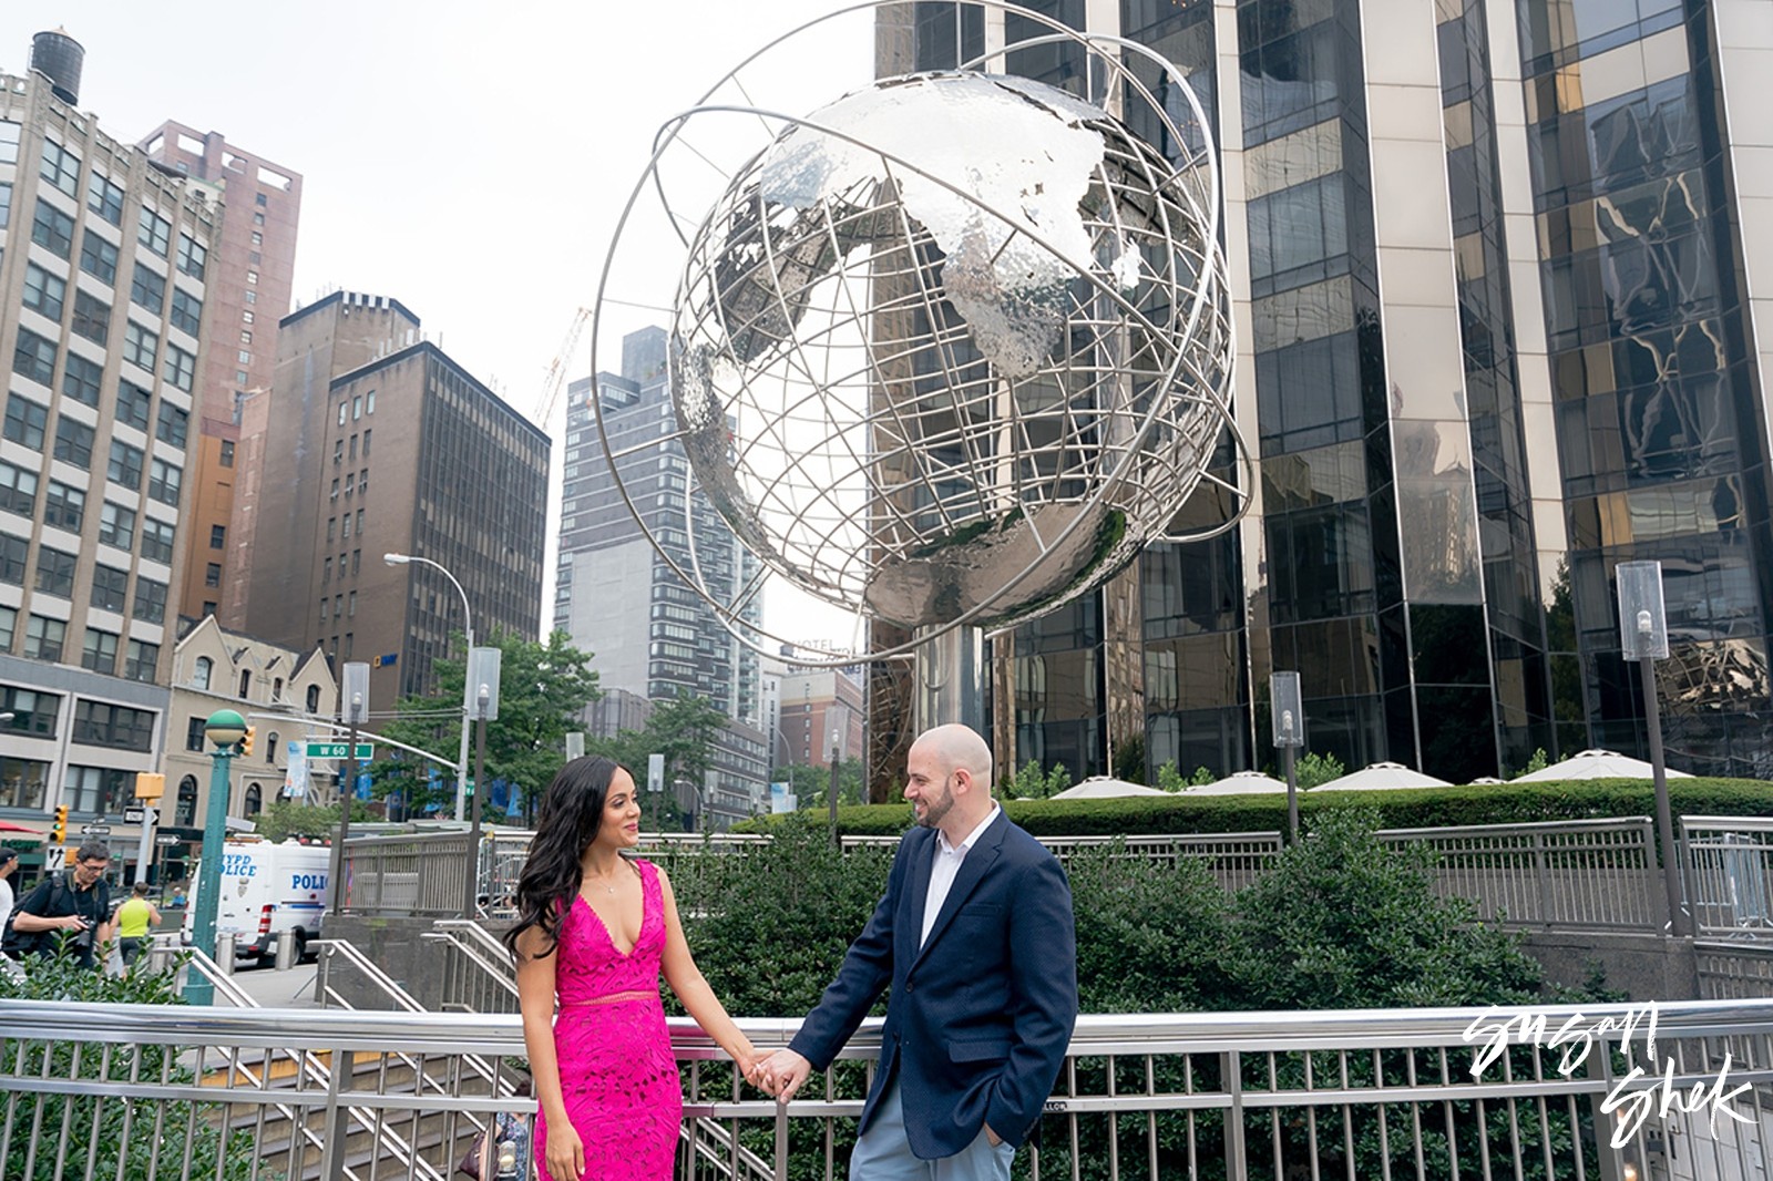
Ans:
{"label": "leafy green tree behind lamp posts, just above the woman's head", "polygon": [[[550,633],[546,642],[527,640],[514,631],[496,631],[488,638],[488,645],[500,649],[500,667],[498,720],[486,725],[486,780],[512,784],[527,812],[534,810],[535,796],[566,763],[567,731],[580,727],[585,706],[599,697],[590,653],[573,647],[569,640],[566,631]],[[447,755],[457,748],[461,736],[466,661],[438,658],[433,669],[436,693],[402,699],[395,706],[399,716],[381,732]],[[468,757],[475,757],[472,747]],[[401,791],[411,810],[427,803],[449,807],[456,798],[452,775],[445,771],[433,786],[424,771],[415,770],[411,755],[378,761],[369,771],[378,796]]]}

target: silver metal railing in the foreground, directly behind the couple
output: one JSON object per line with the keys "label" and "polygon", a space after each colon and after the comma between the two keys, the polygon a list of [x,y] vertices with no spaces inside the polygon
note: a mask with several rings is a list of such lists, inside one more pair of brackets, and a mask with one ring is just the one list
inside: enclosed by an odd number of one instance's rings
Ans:
{"label": "silver metal railing in the foreground, directly behind the couple", "polygon": [[[1773,1002],[1668,1004],[1654,1027],[1649,1016],[1628,1005],[1085,1016],[1039,1147],[1018,1151],[1016,1176],[1617,1181],[1628,1163],[1640,1177],[1773,1170]],[[775,1046],[798,1023],[741,1025]],[[1553,1034],[1562,1044],[1550,1044]],[[688,1117],[681,1181],[844,1176],[878,1021],[785,1108],[743,1089],[693,1025],[672,1021],[672,1036]],[[1484,1060],[1493,1041],[1498,1053]],[[261,1046],[328,1059],[324,1085],[301,1076],[271,1091],[264,1075],[229,1066]],[[519,1052],[514,1016],[0,1004],[0,1161],[7,1177],[55,1181],[431,1177],[493,1112],[534,1112],[532,1099],[463,1085],[463,1057]],[[262,1110],[285,1107],[321,1130],[317,1158],[266,1144]],[[417,1156],[351,1135],[353,1112],[399,1131]]]}

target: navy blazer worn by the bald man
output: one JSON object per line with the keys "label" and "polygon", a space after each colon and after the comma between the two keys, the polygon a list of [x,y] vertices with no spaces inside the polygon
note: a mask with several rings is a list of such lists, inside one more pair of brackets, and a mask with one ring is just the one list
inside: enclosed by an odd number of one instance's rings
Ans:
{"label": "navy blazer worn by the bald man", "polygon": [[924,1160],[954,1156],[982,1124],[1021,1144],[1078,1016],[1071,885],[1058,860],[1000,810],[918,949],[936,848],[934,828],[899,842],[886,896],[791,1043],[826,1069],[892,982],[862,1128],[897,1071],[906,1137]]}

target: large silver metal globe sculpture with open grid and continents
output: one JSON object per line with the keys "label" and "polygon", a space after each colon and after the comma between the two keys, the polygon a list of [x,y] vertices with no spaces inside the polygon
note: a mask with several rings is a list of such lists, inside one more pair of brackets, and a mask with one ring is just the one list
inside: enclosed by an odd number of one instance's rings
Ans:
{"label": "large silver metal globe sculpture with open grid and continents", "polygon": [[[693,218],[668,321],[660,445],[768,569],[922,638],[1071,601],[1177,537],[1204,479],[1238,491],[1222,438],[1248,461],[1199,105],[1149,51],[1027,16],[1105,103],[966,67],[755,110],[773,135]],[[681,573],[730,622],[686,518]]]}

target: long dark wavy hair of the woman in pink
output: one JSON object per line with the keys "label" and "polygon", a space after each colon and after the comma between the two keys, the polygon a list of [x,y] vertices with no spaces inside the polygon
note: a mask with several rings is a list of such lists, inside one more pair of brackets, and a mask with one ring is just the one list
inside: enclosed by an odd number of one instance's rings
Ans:
{"label": "long dark wavy hair of the woman in pink", "polygon": [[580,858],[603,825],[603,805],[617,770],[615,759],[587,755],[567,763],[548,784],[535,816],[530,856],[518,874],[518,922],[505,931],[505,947],[512,956],[518,954],[518,938],[530,927],[548,938],[543,956],[551,956],[560,945],[560,924],[583,885]]}

